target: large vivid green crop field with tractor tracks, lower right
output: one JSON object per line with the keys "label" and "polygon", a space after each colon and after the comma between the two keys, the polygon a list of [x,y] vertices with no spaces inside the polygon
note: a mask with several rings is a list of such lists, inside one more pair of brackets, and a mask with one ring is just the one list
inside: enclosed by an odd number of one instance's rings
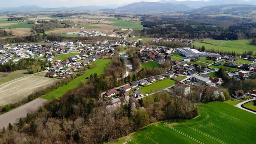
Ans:
{"label": "large vivid green crop field with tractor tracks, lower right", "polygon": [[114,144],[249,144],[256,141],[255,114],[224,102],[201,104],[192,120],[151,124]]}

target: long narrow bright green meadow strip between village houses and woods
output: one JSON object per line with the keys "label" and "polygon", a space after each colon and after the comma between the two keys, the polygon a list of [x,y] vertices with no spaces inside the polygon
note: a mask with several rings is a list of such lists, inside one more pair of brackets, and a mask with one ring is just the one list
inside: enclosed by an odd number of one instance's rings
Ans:
{"label": "long narrow bright green meadow strip between village houses and woods", "polygon": [[60,97],[62,97],[62,95],[64,95],[70,89],[76,88],[79,82],[85,81],[85,78],[87,76],[90,76],[91,74],[93,75],[94,73],[97,73],[97,75],[102,75],[105,68],[108,67],[110,61],[111,60],[109,60],[109,59],[98,59],[96,61],[96,63],[97,63],[96,68],[88,69],[85,72],[85,75],[82,75],[82,76],[72,80],[71,82],[69,82],[69,84],[64,85],[64,86],[62,86],[62,87],[60,87],[60,88],[58,88],[58,89],[56,89],[52,92],[49,92],[46,95],[43,95],[42,98],[44,98],[44,99],[54,99],[54,98],[59,99]]}

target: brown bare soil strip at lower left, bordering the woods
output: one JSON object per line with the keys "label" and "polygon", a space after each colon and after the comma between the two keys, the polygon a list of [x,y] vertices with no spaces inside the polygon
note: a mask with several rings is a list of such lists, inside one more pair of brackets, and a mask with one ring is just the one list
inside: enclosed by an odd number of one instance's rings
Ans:
{"label": "brown bare soil strip at lower left, bordering the woods", "polygon": [[19,118],[26,117],[28,111],[35,111],[37,108],[45,104],[48,100],[37,98],[25,105],[15,108],[12,111],[0,115],[0,128],[8,126],[9,123],[15,124]]}

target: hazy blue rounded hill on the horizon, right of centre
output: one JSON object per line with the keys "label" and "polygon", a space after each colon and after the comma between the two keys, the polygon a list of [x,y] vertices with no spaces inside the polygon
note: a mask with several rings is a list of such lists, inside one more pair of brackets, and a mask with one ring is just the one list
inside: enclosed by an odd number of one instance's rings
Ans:
{"label": "hazy blue rounded hill on the horizon, right of centre", "polygon": [[184,4],[173,3],[159,3],[159,2],[138,2],[131,3],[123,7],[118,7],[116,10],[125,12],[175,12],[193,10],[191,7],[187,7]]}

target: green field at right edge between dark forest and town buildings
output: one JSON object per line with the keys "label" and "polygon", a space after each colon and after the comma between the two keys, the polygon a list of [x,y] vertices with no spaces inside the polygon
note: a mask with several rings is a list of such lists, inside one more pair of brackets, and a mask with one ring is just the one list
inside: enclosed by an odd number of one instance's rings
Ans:
{"label": "green field at right edge between dark forest and town buildings", "polygon": [[236,53],[243,53],[245,51],[256,52],[256,46],[249,44],[249,39],[243,40],[214,40],[214,39],[204,39],[204,43],[196,42],[194,43],[197,47],[205,46],[206,49],[215,49],[220,51],[235,51]]}

